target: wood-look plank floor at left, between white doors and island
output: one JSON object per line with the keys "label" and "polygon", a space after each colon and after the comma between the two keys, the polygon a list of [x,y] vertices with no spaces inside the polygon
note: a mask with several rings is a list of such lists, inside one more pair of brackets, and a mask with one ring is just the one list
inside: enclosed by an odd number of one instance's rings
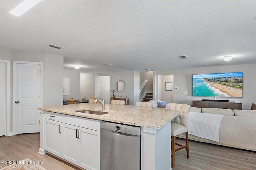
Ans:
{"label": "wood-look plank floor at left, between white doors and island", "polygon": [[[64,162],[56,159],[50,154],[39,154],[39,133],[20,134],[10,137],[0,137],[0,160],[24,160],[29,158],[44,162],[40,166],[47,170],[80,170]],[[4,168],[8,164],[0,164],[0,168]]]}

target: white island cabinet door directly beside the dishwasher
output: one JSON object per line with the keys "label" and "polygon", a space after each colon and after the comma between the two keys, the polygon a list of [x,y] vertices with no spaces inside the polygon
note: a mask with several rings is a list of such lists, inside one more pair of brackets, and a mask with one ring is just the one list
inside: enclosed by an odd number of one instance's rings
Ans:
{"label": "white island cabinet door directly beside the dishwasher", "polygon": [[80,127],[79,138],[79,166],[100,170],[100,131]]}

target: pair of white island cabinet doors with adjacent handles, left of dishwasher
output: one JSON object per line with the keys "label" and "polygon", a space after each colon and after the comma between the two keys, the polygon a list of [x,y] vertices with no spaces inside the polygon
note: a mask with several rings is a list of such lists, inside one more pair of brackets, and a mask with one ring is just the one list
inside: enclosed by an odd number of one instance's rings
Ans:
{"label": "pair of white island cabinet doors with adjacent handles, left of dishwasher", "polygon": [[100,131],[63,123],[62,158],[86,170],[99,170]]}

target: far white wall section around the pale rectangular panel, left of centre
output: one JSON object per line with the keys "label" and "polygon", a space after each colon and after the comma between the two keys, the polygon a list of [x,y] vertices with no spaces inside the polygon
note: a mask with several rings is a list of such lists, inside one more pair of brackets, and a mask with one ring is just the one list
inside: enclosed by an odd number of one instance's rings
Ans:
{"label": "far white wall section around the pale rectangular panel, left of centre", "polygon": [[82,100],[80,98],[80,72],[77,70],[63,70],[63,78],[69,78],[69,95],[63,95],[63,100],[74,98],[74,100]]}

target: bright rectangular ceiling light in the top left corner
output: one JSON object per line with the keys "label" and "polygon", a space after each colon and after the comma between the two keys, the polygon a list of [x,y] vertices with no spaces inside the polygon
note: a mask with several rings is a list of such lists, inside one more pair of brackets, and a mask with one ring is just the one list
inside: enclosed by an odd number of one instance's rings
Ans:
{"label": "bright rectangular ceiling light in the top left corner", "polygon": [[13,10],[10,11],[12,15],[20,16],[36,4],[40,2],[41,0],[24,0],[21,2],[18,6],[16,6]]}

